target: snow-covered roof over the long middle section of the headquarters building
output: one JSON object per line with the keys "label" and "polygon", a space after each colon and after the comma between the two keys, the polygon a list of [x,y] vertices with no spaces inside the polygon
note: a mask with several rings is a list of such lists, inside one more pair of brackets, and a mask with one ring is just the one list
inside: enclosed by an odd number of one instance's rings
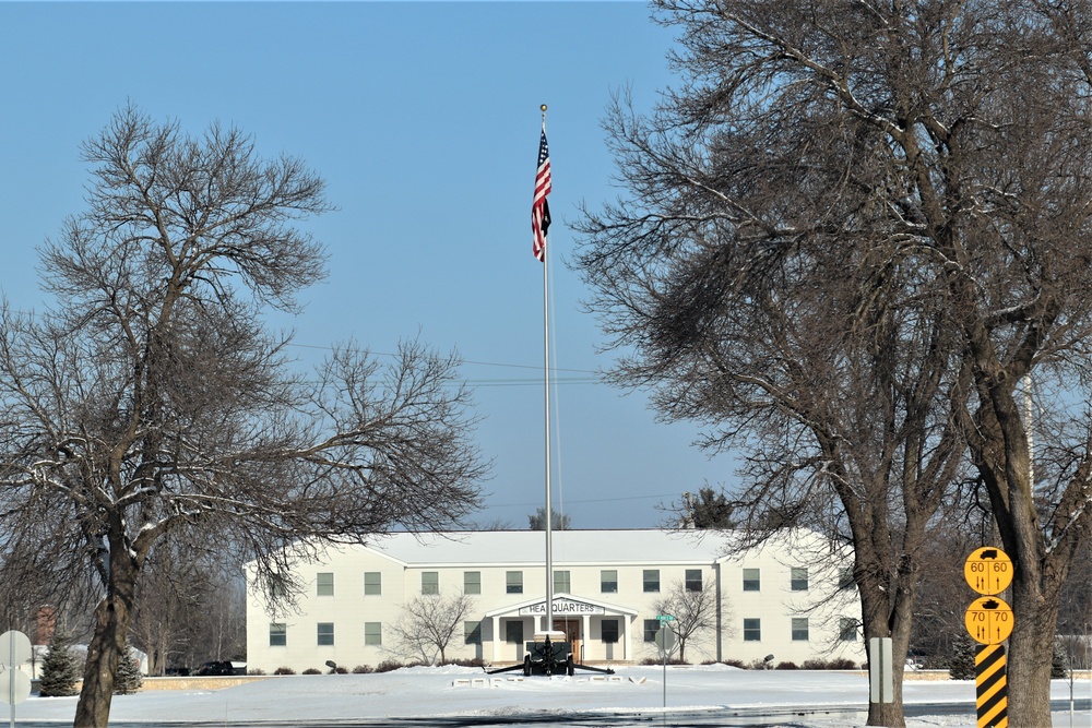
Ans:
{"label": "snow-covered roof over the long middle section of the headquarters building", "polygon": [[[661,529],[555,530],[554,565],[602,563],[713,563],[728,539],[713,532]],[[359,548],[359,547],[357,547]],[[407,565],[544,563],[542,530],[475,530],[442,534],[395,533],[368,548]]]}

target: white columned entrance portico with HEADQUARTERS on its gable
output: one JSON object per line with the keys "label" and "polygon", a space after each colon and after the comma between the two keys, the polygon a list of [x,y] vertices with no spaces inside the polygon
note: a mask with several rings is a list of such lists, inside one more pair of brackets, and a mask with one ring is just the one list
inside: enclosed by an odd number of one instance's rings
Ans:
{"label": "white columned entrance portico with HEADQUARTERS on its gable", "polygon": [[[546,600],[530,599],[492,609],[485,613],[492,634],[492,661],[512,661],[523,658],[523,644],[509,645],[506,635],[509,622],[521,622],[523,641],[531,640],[535,632],[556,630],[566,633],[572,643],[572,652],[578,663],[585,658],[593,660],[634,659],[631,635],[638,610],[619,607],[598,599],[558,594],[554,597],[554,623],[546,624]],[[616,630],[616,631],[615,631]],[[591,641],[596,640],[595,646]],[[618,651],[618,643],[621,649]],[[620,652],[620,654],[619,654]]]}

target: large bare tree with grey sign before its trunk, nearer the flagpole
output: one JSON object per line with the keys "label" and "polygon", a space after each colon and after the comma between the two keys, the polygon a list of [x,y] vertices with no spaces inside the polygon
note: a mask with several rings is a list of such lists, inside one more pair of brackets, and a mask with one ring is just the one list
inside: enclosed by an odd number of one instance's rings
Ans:
{"label": "large bare tree with grey sign before its trunk, nearer the flagpole", "polygon": [[631,194],[587,213],[578,262],[632,351],[615,381],[744,453],[740,546],[792,525],[831,535],[832,553],[852,545],[865,637],[899,657],[895,701],[868,721],[899,726],[923,545],[965,464],[970,372],[943,285],[877,199],[899,163],[793,45],[864,33],[856,16],[817,27],[817,4],[658,5],[684,29],[684,91],[650,117],[624,98],[610,110]]}

